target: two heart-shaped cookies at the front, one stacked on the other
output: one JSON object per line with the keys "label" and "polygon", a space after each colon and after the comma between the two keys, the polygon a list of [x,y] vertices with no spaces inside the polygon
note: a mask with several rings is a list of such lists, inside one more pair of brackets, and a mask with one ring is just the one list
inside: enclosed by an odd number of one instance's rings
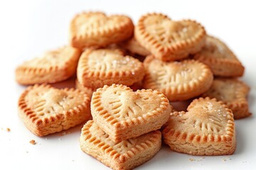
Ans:
{"label": "two heart-shaped cookies at the front, one stacked on the other", "polygon": [[112,84],[92,94],[92,119],[82,128],[80,147],[112,169],[133,169],[161,148],[161,128],[171,112],[159,91],[132,91]]}

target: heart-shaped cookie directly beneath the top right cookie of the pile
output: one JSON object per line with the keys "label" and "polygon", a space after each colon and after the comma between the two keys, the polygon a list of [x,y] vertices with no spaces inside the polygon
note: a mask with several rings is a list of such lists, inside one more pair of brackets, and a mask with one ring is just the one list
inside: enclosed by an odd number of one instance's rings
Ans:
{"label": "heart-shaped cookie directly beneath the top right cookie of the pile", "polygon": [[185,101],[210,89],[213,73],[195,60],[162,62],[149,56],[144,60],[144,88],[163,93],[169,101]]}

